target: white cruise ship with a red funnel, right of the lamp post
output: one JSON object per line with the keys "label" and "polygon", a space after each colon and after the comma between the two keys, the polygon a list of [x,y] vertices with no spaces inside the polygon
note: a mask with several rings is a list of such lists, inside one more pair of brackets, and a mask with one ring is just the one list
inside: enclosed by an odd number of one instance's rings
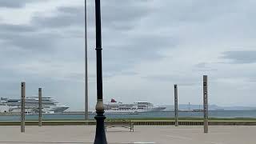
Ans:
{"label": "white cruise ship with a red funnel, right of the lamp post", "polygon": [[125,104],[116,102],[111,99],[110,102],[104,104],[106,113],[140,113],[140,112],[154,112],[165,110],[166,107],[154,106],[150,102],[134,102],[133,104]]}

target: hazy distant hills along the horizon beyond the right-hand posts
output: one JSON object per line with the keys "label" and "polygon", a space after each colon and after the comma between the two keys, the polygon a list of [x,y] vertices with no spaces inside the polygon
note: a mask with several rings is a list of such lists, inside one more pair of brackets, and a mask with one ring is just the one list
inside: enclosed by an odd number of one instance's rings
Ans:
{"label": "hazy distant hills along the horizon beyond the right-hand posts", "polygon": [[[202,105],[188,105],[188,104],[180,104],[178,105],[178,110],[202,110]],[[217,106],[210,105],[208,107],[209,110],[256,110],[256,107],[250,106]],[[166,105],[165,111],[174,110],[174,105]]]}

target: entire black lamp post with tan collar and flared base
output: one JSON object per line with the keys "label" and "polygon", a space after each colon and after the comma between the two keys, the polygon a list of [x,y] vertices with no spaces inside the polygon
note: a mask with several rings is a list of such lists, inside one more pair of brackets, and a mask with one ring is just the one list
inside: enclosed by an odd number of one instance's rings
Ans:
{"label": "entire black lamp post with tan collar and flared base", "polygon": [[104,107],[102,98],[102,26],[101,26],[101,1],[95,0],[96,19],[96,63],[97,63],[97,104],[96,113],[96,134],[94,144],[106,144],[106,133],[104,126]]}

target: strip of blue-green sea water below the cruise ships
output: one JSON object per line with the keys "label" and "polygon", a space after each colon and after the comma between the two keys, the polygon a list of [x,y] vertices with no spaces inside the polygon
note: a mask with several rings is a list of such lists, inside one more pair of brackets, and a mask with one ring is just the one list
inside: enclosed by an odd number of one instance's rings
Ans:
{"label": "strip of blue-green sea water below the cruise ships", "polygon": [[[105,114],[106,118],[174,118],[174,112],[147,112],[136,114]],[[89,114],[94,119],[95,114]],[[179,112],[178,117],[202,118],[202,112]],[[82,120],[85,114],[42,114],[43,120]],[[210,110],[209,118],[256,118],[256,110]],[[19,121],[20,116],[0,116],[0,121]],[[26,115],[26,120],[38,120],[37,114]]]}

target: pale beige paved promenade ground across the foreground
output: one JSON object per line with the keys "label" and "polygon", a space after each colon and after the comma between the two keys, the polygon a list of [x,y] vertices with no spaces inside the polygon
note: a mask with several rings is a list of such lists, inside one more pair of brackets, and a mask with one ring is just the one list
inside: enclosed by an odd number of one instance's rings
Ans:
{"label": "pale beige paved promenade ground across the foreground", "polygon": [[[134,132],[114,127],[106,131],[113,144],[255,144],[256,126],[134,126]],[[0,126],[0,144],[80,144],[93,143],[95,126]]]}

